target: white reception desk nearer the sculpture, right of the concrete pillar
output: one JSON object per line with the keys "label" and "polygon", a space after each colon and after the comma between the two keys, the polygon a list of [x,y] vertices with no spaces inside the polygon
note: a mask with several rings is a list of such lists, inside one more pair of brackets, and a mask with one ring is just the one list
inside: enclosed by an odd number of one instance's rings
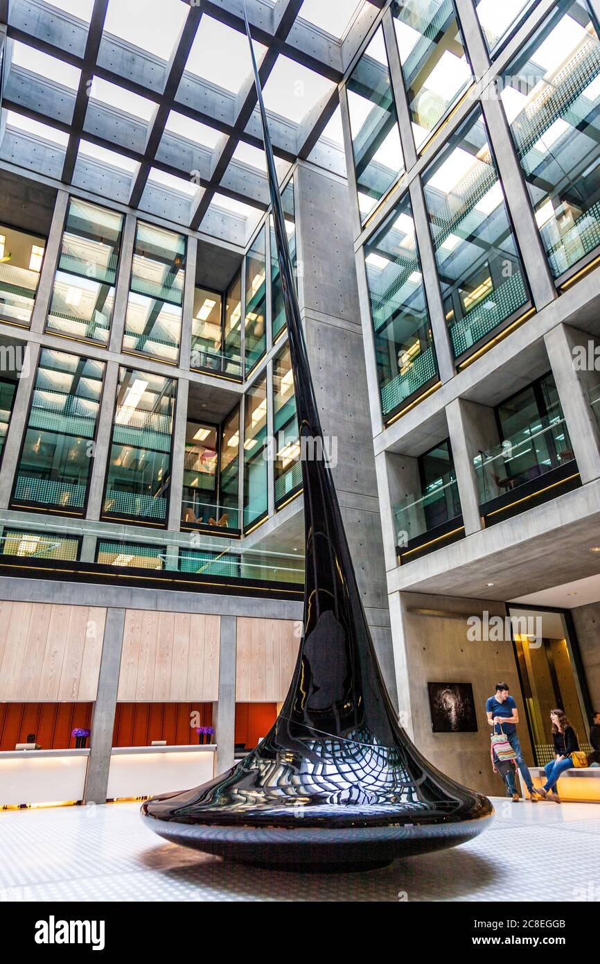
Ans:
{"label": "white reception desk nearer the sculpture, right of the concrete pillar", "polygon": [[111,752],[107,798],[154,796],[212,780],[216,745],[117,746]]}

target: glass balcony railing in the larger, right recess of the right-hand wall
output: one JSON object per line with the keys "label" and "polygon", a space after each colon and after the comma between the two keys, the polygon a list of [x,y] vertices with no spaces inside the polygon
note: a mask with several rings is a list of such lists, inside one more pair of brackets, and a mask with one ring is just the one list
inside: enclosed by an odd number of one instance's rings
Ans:
{"label": "glass balcony railing in the larger, right recess of the right-hand wall", "polygon": [[480,452],[473,464],[483,515],[516,499],[536,495],[577,472],[563,417],[549,425],[536,422],[528,426],[487,452]]}

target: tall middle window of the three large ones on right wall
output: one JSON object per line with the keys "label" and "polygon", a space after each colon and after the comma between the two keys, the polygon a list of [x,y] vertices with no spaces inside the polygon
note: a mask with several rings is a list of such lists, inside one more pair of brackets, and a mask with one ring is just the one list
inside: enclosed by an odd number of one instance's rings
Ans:
{"label": "tall middle window of the three large ones on right wall", "polygon": [[430,164],[423,186],[458,358],[529,302],[481,110]]}

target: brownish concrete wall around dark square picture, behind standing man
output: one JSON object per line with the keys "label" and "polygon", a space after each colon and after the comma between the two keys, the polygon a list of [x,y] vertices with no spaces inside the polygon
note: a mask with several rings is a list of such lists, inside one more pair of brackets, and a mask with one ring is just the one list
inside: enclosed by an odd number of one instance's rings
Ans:
{"label": "brownish concrete wall around dark square picture, behind standing man", "polygon": [[[485,700],[494,684],[506,680],[520,710],[518,728],[525,760],[534,763],[512,643],[471,642],[468,616],[483,609],[505,616],[504,603],[452,599],[419,593],[396,594],[394,652],[404,664],[401,720],[431,763],[459,783],[484,793],[502,795],[503,784],[492,772]],[[396,618],[398,616],[398,618]],[[471,683],[477,711],[477,733],[432,733],[428,683]]]}

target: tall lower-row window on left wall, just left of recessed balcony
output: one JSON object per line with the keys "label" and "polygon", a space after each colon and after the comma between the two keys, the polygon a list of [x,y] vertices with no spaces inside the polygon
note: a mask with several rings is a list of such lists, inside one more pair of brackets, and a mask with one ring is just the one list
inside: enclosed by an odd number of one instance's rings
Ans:
{"label": "tall lower-row window on left wall, just left of recessed balcony", "polygon": [[120,368],[103,515],[167,522],[176,382]]}

